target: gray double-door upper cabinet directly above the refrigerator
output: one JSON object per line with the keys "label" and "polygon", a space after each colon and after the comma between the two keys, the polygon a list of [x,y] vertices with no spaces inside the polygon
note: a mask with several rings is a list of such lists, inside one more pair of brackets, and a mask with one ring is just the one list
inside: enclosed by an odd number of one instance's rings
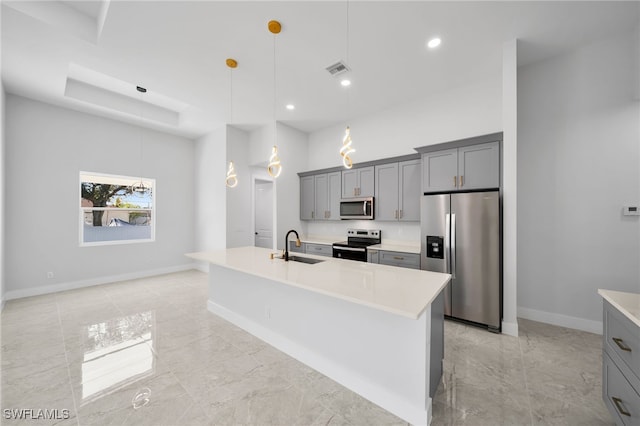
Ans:
{"label": "gray double-door upper cabinet directly above the refrigerator", "polygon": [[499,142],[422,154],[423,192],[466,191],[499,186]]}

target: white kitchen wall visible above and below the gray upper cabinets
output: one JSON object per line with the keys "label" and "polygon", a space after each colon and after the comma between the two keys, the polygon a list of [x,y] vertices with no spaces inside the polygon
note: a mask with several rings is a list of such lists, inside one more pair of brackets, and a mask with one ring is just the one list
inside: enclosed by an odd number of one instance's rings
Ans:
{"label": "white kitchen wall visible above and below the gray upper cabinets", "polygon": [[[309,168],[342,165],[346,124],[309,135]],[[349,123],[358,162],[415,154],[414,148],[502,131],[501,79],[476,82]],[[309,222],[309,235],[346,236],[347,228],[382,230],[383,239],[419,243],[420,225],[380,221]]]}

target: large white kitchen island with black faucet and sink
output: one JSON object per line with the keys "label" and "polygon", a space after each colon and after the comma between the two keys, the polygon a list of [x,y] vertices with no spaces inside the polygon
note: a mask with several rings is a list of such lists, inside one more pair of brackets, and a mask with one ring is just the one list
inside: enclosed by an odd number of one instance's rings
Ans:
{"label": "large white kitchen island with black faucet and sink", "polygon": [[350,260],[270,259],[257,247],[191,253],[210,263],[208,309],[412,424],[431,420],[450,275]]}

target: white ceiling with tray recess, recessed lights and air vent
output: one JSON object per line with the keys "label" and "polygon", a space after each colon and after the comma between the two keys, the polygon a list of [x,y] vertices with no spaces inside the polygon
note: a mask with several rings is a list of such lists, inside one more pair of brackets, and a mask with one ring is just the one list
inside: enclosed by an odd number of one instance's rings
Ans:
{"label": "white ceiling with tray recess, recessed lights and air vent", "polygon": [[[4,0],[2,81],[9,93],[191,138],[229,122],[232,99],[233,124],[250,129],[274,118],[271,19],[283,26],[275,36],[276,118],[312,132],[499,79],[507,40],[521,40],[524,65],[631,30],[640,2]],[[434,35],[442,45],[428,51]],[[232,97],[228,57],[239,62]],[[325,67],[347,59],[353,84],[345,89]],[[115,97],[104,96],[107,86]],[[141,100],[174,105],[165,114],[173,121],[145,115]]]}

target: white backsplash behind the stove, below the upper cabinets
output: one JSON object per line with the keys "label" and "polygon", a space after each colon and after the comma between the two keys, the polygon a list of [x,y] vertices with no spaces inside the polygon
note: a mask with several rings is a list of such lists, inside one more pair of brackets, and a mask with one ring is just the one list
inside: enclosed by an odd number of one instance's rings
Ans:
{"label": "white backsplash behind the stove, below the upper cabinets", "polygon": [[303,233],[305,235],[344,236],[346,238],[347,228],[380,229],[382,230],[383,243],[385,240],[420,243],[420,223],[418,222],[396,223],[375,220],[316,221],[303,224]]}

